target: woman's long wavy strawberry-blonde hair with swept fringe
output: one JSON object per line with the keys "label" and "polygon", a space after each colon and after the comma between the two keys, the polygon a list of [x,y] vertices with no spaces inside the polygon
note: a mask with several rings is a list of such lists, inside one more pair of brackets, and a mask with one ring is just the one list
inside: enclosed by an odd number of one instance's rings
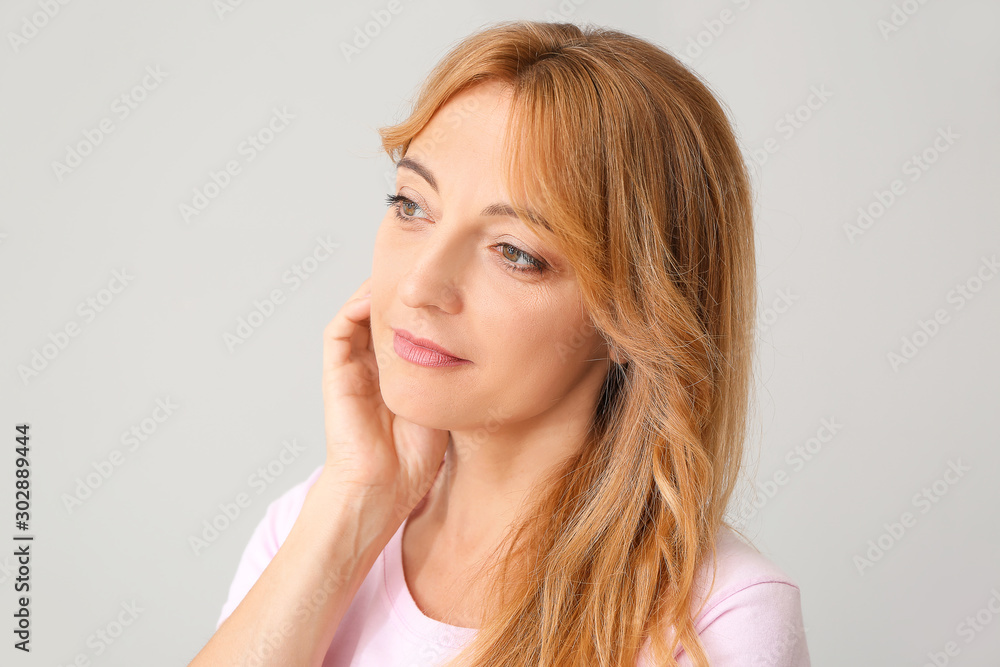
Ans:
{"label": "woman's long wavy strawberry-blonde hair with swept fringe", "polygon": [[382,149],[398,161],[485,80],[512,92],[511,204],[564,253],[624,361],[587,442],[521,509],[482,626],[448,664],[631,667],[650,638],[655,664],[676,665],[680,646],[706,666],[696,574],[722,526],[740,532],[725,512],[752,389],[753,202],[734,129],[708,85],[648,41],[505,21],[451,48],[410,115],[379,128]]}

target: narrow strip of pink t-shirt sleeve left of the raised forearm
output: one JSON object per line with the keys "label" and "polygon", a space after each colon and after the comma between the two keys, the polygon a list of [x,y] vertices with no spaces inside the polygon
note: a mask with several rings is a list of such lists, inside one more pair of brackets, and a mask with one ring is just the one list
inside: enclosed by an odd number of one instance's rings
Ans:
{"label": "narrow strip of pink t-shirt sleeve left of the raised forearm", "polygon": [[316,468],[309,477],[285,491],[267,506],[264,517],[254,528],[249,542],[243,549],[243,555],[236,567],[236,574],[229,585],[229,594],[222,605],[219,620],[216,621],[216,630],[222,626],[222,622],[233,613],[253,585],[257,583],[257,579],[260,578],[267,564],[271,562],[274,554],[278,552],[278,548],[288,537],[302,505],[305,503],[309,487],[319,477],[322,468],[322,466]]}

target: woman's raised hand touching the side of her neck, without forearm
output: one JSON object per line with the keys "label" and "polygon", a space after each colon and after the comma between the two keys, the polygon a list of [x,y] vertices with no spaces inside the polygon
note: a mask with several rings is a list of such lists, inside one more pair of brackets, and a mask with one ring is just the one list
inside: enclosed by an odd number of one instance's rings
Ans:
{"label": "woman's raised hand touching the side of her neck, without forearm", "polygon": [[347,500],[383,507],[395,529],[434,482],[449,433],[407,421],[383,402],[371,335],[370,286],[368,278],[323,332],[322,474]]}

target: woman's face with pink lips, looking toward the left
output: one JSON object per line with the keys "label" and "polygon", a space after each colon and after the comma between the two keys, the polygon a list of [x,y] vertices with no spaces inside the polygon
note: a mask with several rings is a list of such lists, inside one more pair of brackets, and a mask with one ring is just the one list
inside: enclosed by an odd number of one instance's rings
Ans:
{"label": "woman's face with pink lips, looking toward the left", "polygon": [[[509,202],[498,159],[508,100],[502,84],[483,83],[434,115],[397,165],[393,194],[406,199],[389,206],[375,240],[371,326],[382,397],[431,428],[486,424],[492,433],[546,414],[589,418],[608,369],[563,257],[513,214],[489,208]],[[401,343],[395,330],[465,363],[415,363],[414,355],[441,358]]]}

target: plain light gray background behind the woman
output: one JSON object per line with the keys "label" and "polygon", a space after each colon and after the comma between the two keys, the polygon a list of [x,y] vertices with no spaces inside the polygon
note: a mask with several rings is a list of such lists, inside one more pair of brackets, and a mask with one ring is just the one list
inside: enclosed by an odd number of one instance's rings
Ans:
{"label": "plain light gray background behind the woman", "polygon": [[[730,107],[748,159],[773,140],[755,168],[760,509],[741,516],[801,585],[813,663],[923,665],[954,642],[947,664],[996,664],[1000,278],[980,267],[1000,250],[1000,6],[400,3],[349,62],[341,44],[387,2],[244,0],[220,16],[210,0],[80,0],[51,18],[37,1],[3,3],[0,532],[13,545],[14,425],[29,422],[36,541],[30,656],[11,648],[13,547],[0,547],[0,662],[181,665],[204,645],[267,503],[324,458],[320,335],[370,274],[391,187],[375,128],[485,22],[561,16],[685,56]],[[901,25],[886,33],[894,6]],[[112,104],[147,66],[165,78],[122,119]],[[814,89],[828,99],[803,107]],[[275,107],[294,120],[248,161],[239,145]],[[796,112],[808,118],[789,136]],[[60,180],[53,162],[103,118],[114,131]],[[948,128],[957,138],[935,152]],[[913,180],[907,161],[925,150],[936,159]],[[241,172],[185,223],[179,205],[231,159]],[[845,226],[896,179],[901,194],[852,242]],[[293,289],[283,275],[318,237],[339,247]],[[88,320],[78,304],[116,270],[134,279]],[[230,351],[224,336],[275,289],[284,302]],[[935,335],[893,368],[888,355],[938,310]],[[71,323],[79,335],[23,380]],[[121,434],[167,398],[179,407],[130,450]],[[305,451],[275,464],[291,439]],[[64,494],[115,449],[121,464],[68,510]],[[950,462],[968,468],[954,484],[940,481]],[[280,474],[252,486],[268,464]],[[933,504],[915,499],[935,482]],[[240,493],[250,506],[196,555],[189,537]],[[904,512],[915,521],[892,537]],[[888,549],[860,569],[880,539]],[[97,656],[88,637],[132,602],[138,618]]]}

